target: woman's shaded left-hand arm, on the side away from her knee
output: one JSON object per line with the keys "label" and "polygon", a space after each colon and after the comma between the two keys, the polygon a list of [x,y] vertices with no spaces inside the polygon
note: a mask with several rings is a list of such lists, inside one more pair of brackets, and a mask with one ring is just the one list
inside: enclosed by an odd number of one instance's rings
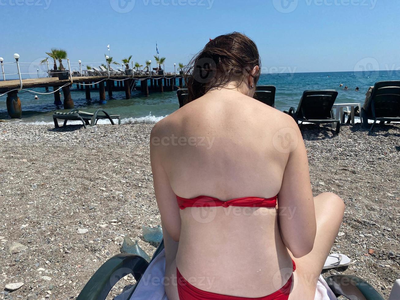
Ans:
{"label": "woman's shaded left-hand arm, on the side away from her knee", "polygon": [[165,154],[164,147],[160,143],[154,143],[154,137],[162,138],[162,133],[156,124],[150,134],[150,162],[153,173],[154,192],[158,210],[161,214],[161,222],[174,241],[179,241],[180,236],[180,214],[176,195],[170,186],[168,176],[162,166],[162,156]]}

